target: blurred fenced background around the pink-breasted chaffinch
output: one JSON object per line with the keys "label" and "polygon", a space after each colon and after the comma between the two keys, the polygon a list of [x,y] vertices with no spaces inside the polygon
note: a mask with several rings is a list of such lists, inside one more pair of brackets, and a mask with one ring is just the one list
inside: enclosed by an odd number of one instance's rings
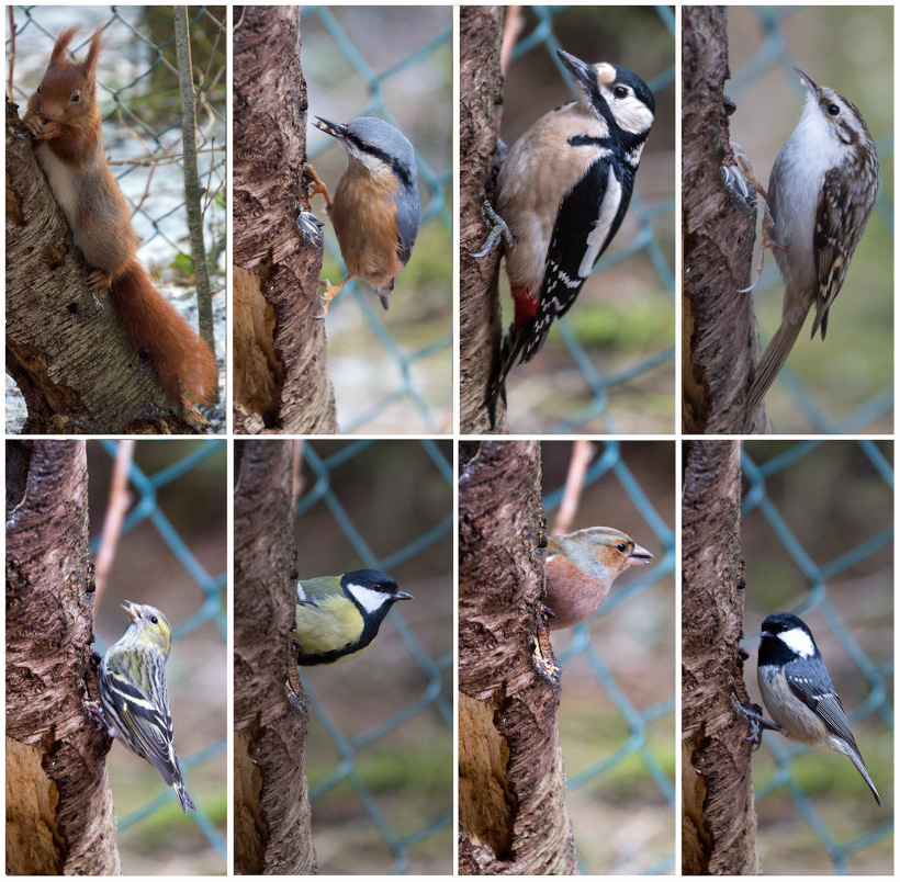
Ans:
{"label": "blurred fenced background around the pink-breasted chaffinch", "polygon": [[[543,441],[552,531],[570,441]],[[562,665],[559,724],[566,805],[583,874],[671,873],[675,800],[675,445],[597,445],[572,530],[615,527],[654,555],[612,586],[588,623],[552,632]],[[637,723],[637,717],[642,719]]]}

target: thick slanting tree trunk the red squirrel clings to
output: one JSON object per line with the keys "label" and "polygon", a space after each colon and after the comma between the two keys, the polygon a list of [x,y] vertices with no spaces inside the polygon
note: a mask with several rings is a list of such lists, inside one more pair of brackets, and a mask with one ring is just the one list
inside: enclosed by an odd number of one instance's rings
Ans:
{"label": "thick slanting tree trunk the red squirrel clings to", "polygon": [[27,406],[23,432],[195,433],[89,273],[7,101],[7,373]]}

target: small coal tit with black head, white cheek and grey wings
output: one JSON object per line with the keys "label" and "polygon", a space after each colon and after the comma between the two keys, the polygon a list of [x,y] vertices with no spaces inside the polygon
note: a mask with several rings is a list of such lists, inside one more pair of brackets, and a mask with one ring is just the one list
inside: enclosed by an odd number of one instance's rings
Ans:
{"label": "small coal tit with black head, white cheek and grey wings", "polygon": [[752,737],[758,740],[762,726],[802,744],[845,754],[881,805],[825,663],[802,620],[789,612],[774,612],[763,622],[756,678],[774,722],[736,705],[751,720]]}

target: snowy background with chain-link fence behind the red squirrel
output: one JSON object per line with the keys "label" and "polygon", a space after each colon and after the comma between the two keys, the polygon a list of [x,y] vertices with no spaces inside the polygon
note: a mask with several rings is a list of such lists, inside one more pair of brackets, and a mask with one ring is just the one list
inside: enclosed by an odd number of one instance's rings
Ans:
{"label": "snowy background with chain-link fence behind the red squirrel", "polygon": [[[7,90],[19,104],[20,116],[41,83],[63,30],[72,24],[80,26],[69,45],[69,52],[78,59],[83,58],[93,32],[102,31],[97,97],[103,115],[103,142],[113,177],[142,239],[138,260],[166,297],[196,328],[172,7],[31,5],[10,7],[9,11],[15,37],[13,42],[8,19],[5,45],[11,81]],[[198,102],[196,114],[198,170],[201,186],[205,186],[203,229],[214,292],[216,359],[221,365],[225,364],[226,352],[225,14],[225,7],[188,10],[194,83],[203,99]],[[24,410],[9,377],[7,411],[7,432],[19,432]],[[224,419],[221,430],[224,431]]]}

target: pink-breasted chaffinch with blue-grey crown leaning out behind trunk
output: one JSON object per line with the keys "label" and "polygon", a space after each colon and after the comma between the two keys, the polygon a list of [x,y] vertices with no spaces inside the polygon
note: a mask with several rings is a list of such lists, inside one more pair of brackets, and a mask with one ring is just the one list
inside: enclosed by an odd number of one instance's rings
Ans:
{"label": "pink-breasted chaffinch with blue-grey crown leaning out behind trunk", "polygon": [[653,555],[611,527],[588,527],[547,540],[544,606],[553,612],[550,630],[586,622],[606,600],[617,576]]}

